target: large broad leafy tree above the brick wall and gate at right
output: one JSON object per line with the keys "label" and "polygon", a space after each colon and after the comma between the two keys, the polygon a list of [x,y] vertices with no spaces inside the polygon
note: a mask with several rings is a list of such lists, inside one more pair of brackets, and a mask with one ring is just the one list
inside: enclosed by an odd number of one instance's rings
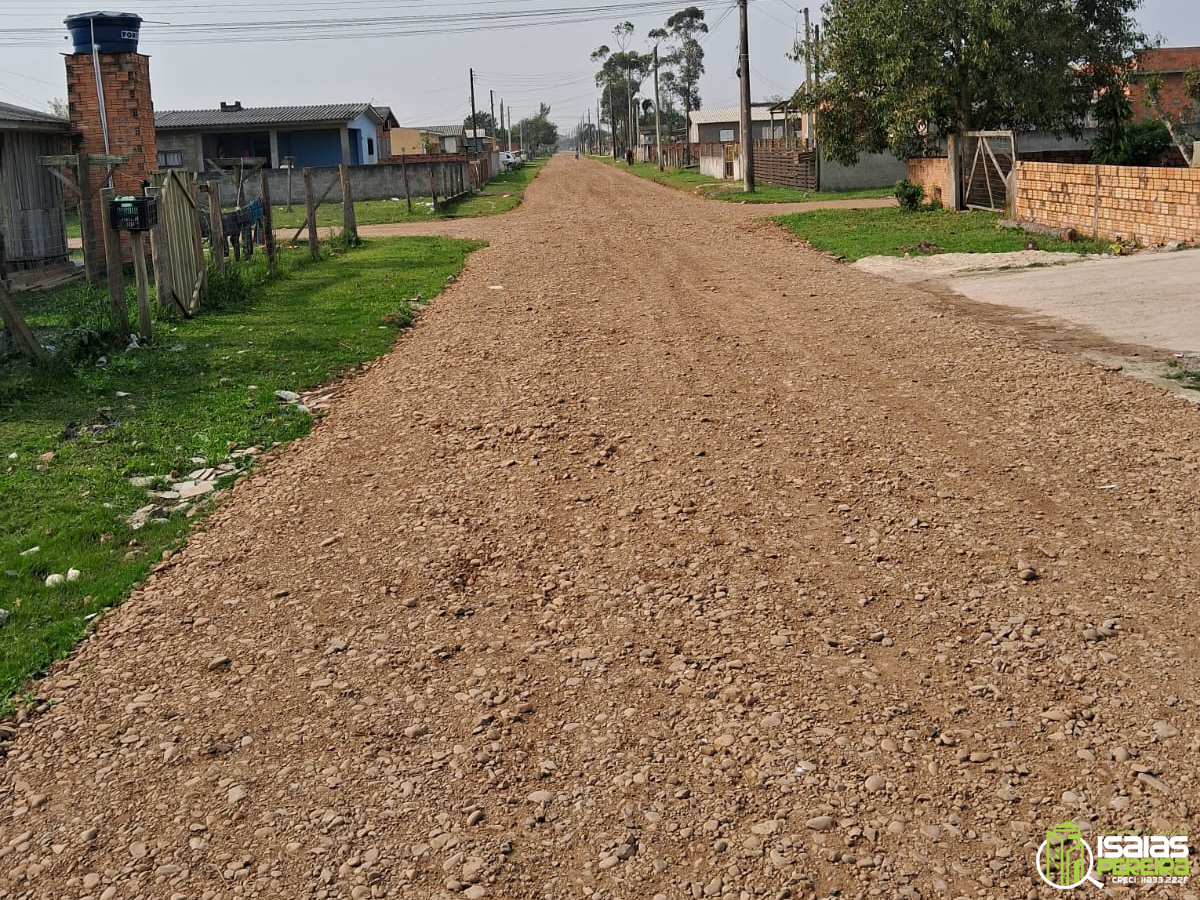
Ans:
{"label": "large broad leafy tree above the brick wall and gate at right", "polygon": [[1038,127],[1079,134],[1146,36],[1140,0],[829,0],[814,88],[834,160],[916,154],[922,132]]}

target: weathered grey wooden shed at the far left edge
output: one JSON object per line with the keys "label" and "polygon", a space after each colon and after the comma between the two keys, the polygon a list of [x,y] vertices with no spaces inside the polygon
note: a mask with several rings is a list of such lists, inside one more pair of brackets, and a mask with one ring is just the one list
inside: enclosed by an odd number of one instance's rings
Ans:
{"label": "weathered grey wooden shed at the far left edge", "polygon": [[10,272],[67,260],[62,186],[38,157],[70,152],[70,132],[66,119],[0,103],[0,262]]}

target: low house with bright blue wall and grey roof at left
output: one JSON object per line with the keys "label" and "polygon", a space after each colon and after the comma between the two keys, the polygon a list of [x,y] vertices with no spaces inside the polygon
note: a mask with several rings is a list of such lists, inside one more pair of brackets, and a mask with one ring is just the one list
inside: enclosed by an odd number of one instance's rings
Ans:
{"label": "low house with bright blue wall and grey roof at left", "polygon": [[158,167],[204,172],[209,160],[258,158],[266,168],[373,166],[391,112],[371,103],[316,107],[242,107],[155,114]]}

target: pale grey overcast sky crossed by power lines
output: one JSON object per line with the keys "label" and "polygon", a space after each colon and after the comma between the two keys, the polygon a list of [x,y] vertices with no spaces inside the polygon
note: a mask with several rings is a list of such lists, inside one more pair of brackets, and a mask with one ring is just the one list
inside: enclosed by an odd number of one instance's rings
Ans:
{"label": "pale grey overcast sky crossed by power lines", "polygon": [[[644,50],[647,32],[661,26],[676,8],[696,2],[712,29],[704,40],[707,72],[701,83],[706,107],[737,104],[737,8],[732,0],[154,0],[121,4],[118,10],[146,19],[142,52],[152,56],[150,72],[157,109],[215,108],[221,101],[244,106],[281,106],[373,101],[390,106],[402,125],[462,121],[470,110],[468,70],[475,68],[475,98],[490,108],[503,98],[516,118],[551,106],[551,118],[570,130],[581,115],[595,116],[596,66],[589,54],[614,46],[612,26],[629,19],[636,26],[631,49]],[[750,55],[755,100],[788,95],[803,78],[786,58],[803,30],[804,0],[751,0]],[[606,7],[596,13],[581,10]],[[653,12],[630,14],[631,10]],[[58,0],[0,0],[7,28],[0,29],[0,100],[44,109],[65,97],[61,53],[62,19],[82,5]],[[811,6],[814,17],[817,6]],[[517,26],[509,13],[523,17]],[[557,23],[546,19],[559,17]],[[581,22],[593,17],[595,20]],[[403,22],[362,22],[398,17]],[[412,17],[412,18],[409,18]],[[428,22],[428,17],[445,17]],[[1142,28],[1166,46],[1200,46],[1198,0],[1145,0]],[[419,23],[425,20],[424,29]],[[570,19],[570,20],[563,20]],[[229,23],[295,22],[284,32],[217,31]],[[294,40],[328,34],[322,20],[354,25],[354,36]],[[151,24],[167,23],[167,24]],[[314,24],[317,23],[317,24]],[[187,31],[185,26],[192,26]],[[206,28],[198,29],[196,26]],[[508,25],[493,28],[493,25]],[[25,29],[30,29],[25,31]],[[450,29],[457,29],[446,34]],[[410,34],[426,30],[431,34]],[[5,35],[5,31],[8,31]],[[440,34],[438,32],[440,31]],[[232,42],[230,37],[242,38]],[[246,40],[250,38],[250,40]]]}

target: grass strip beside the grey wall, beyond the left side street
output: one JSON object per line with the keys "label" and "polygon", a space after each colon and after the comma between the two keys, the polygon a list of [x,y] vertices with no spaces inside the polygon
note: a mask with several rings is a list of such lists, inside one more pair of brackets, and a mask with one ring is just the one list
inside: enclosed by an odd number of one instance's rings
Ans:
{"label": "grass strip beside the grey wall, beyond the left side street", "polygon": [[[508,212],[521,203],[524,188],[538,176],[545,161],[526,163],[520,169],[497,175],[487,182],[484,191],[443,206],[433,211],[430,197],[414,197],[413,211],[408,211],[404,198],[398,200],[356,200],[354,216],[359,224],[391,224],[394,222],[428,222],[434,218],[470,218],[475,216],[493,216]],[[301,188],[302,190],[302,188]],[[288,212],[286,205],[272,208],[276,228],[299,228],[305,221],[304,198],[292,204]],[[317,208],[319,227],[341,227],[342,204],[323,203]]]}

